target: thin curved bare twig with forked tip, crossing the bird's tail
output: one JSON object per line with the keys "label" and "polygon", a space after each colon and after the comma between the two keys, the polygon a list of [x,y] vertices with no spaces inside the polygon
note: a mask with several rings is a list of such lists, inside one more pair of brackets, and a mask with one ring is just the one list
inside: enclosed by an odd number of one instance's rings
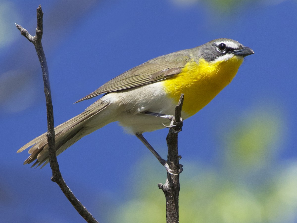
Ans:
{"label": "thin curved bare twig with forked tip, crossing the bird's tail", "polygon": [[72,191],[69,189],[67,184],[65,183],[60,169],[56,156],[55,149],[55,129],[54,129],[54,117],[53,117],[53,104],[50,93],[50,80],[49,80],[49,72],[48,65],[46,62],[45,54],[42,48],[42,34],[43,34],[43,12],[41,9],[41,5],[37,8],[37,28],[35,36],[31,36],[29,32],[24,29],[22,26],[15,24],[16,27],[20,30],[20,33],[25,36],[31,43],[34,44],[38,59],[40,61],[43,84],[44,84],[44,93],[46,100],[46,113],[47,113],[47,121],[48,121],[48,151],[49,151],[49,160],[50,160],[50,168],[52,169],[52,177],[51,180],[56,182],[67,199],[71,202],[73,207],[78,211],[78,213],[86,220],[86,222],[90,223],[98,223],[97,220],[89,213],[89,211],[81,204],[81,202],[74,196]]}

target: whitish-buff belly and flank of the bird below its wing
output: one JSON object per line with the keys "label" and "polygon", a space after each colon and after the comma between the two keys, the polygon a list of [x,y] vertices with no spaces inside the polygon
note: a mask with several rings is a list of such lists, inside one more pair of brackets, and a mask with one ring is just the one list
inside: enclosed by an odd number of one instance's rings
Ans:
{"label": "whitish-buff belly and flank of the bird below its wing", "polygon": [[173,99],[165,95],[162,81],[122,92],[112,92],[103,96],[102,100],[117,105],[115,120],[133,134],[161,129],[164,128],[162,123],[170,123],[166,118],[143,114],[144,112],[174,115],[176,106]]}

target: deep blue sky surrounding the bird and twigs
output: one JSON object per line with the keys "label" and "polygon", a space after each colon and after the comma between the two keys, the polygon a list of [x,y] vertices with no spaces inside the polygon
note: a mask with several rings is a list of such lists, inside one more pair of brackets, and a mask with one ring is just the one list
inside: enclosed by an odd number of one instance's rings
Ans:
{"label": "deep blue sky surrounding the bird and twigs", "polygon": [[[184,122],[179,153],[186,177],[191,172],[187,163],[216,167],[222,135],[257,111],[282,122],[274,165],[297,161],[297,1],[268,3],[239,4],[220,12],[202,3],[185,6],[169,0],[1,2],[1,219],[83,222],[50,181],[50,167],[30,169],[23,166],[26,151],[16,153],[47,127],[38,58],[14,23],[34,34],[36,8],[42,5],[42,41],[55,125],[79,114],[97,98],[73,104],[76,100],[154,57],[221,37],[252,48],[255,54],[245,59],[231,84]],[[144,134],[162,157],[166,157],[167,131]],[[58,156],[58,161],[69,187],[99,222],[108,222],[105,212],[129,200],[135,169],[156,166],[151,171],[165,182],[164,167],[117,123],[84,137]]]}

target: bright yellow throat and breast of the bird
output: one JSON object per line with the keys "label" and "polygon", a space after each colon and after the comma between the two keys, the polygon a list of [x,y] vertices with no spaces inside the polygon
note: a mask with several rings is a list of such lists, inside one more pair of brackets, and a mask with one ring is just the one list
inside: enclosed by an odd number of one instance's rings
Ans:
{"label": "bright yellow throat and breast of the bird", "polygon": [[181,73],[163,81],[165,92],[176,103],[184,93],[183,112],[192,116],[232,81],[242,61],[241,56],[217,62],[191,60]]}

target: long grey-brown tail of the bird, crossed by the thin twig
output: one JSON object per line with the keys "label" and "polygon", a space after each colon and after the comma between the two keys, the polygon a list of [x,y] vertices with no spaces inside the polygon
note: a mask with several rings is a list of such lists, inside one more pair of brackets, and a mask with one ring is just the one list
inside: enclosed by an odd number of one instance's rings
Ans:
{"label": "long grey-brown tail of the bird, crossed by the thin twig", "polygon": [[[55,128],[56,154],[59,155],[83,136],[113,122],[114,112],[112,112],[112,109],[107,109],[108,107],[110,107],[110,103],[99,99],[83,113],[57,126]],[[42,167],[44,167],[48,164],[49,152],[46,133],[28,142],[21,147],[17,153],[22,152],[30,146],[32,147],[29,149],[28,153],[31,155],[24,161],[24,164],[32,163],[36,159],[32,167],[37,164],[37,167],[41,164],[43,164]]]}

